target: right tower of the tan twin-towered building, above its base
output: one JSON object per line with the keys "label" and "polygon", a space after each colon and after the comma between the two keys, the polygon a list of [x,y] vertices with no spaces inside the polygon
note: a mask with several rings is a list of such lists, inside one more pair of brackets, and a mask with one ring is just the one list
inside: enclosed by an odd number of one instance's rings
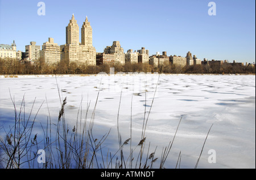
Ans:
{"label": "right tower of the tan twin-towered building, above its base", "polygon": [[81,28],[81,43],[85,47],[92,47],[92,27],[90,22],[88,22],[87,16]]}

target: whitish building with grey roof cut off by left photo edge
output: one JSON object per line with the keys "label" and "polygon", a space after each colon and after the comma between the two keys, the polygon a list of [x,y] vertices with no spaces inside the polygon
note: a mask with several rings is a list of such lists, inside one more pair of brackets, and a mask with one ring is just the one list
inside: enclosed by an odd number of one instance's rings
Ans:
{"label": "whitish building with grey roof cut off by left photo edge", "polygon": [[16,44],[15,41],[11,45],[0,44],[0,58],[16,58]]}

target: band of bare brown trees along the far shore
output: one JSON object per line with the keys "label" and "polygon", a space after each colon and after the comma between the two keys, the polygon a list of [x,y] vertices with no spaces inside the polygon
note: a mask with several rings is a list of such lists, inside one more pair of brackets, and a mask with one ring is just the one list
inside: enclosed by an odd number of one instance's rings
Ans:
{"label": "band of bare brown trees along the far shore", "polygon": [[212,65],[192,65],[180,66],[175,64],[163,64],[154,67],[150,64],[127,63],[125,65],[115,64],[109,66],[108,64],[101,64],[98,66],[77,64],[67,60],[61,60],[57,64],[47,64],[39,58],[32,64],[30,61],[17,61],[13,58],[0,58],[0,74],[98,74],[100,72],[109,73],[110,67],[117,72],[144,72],[144,73],[171,73],[171,74],[255,74],[255,66],[240,66],[224,63],[221,66],[217,64]]}

